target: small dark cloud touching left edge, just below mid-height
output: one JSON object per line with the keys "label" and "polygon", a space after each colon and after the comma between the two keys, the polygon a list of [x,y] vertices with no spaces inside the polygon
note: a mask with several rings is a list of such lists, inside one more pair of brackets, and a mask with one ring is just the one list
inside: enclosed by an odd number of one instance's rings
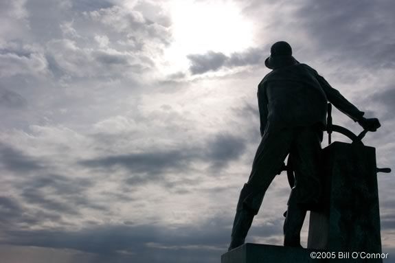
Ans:
{"label": "small dark cloud touching left edge, just below mid-height", "polygon": [[0,165],[9,171],[22,173],[44,168],[42,161],[6,144],[0,144]]}

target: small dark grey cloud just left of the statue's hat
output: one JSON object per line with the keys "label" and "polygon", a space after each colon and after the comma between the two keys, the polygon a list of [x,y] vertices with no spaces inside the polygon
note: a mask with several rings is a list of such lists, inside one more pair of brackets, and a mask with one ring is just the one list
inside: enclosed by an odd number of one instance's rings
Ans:
{"label": "small dark grey cloud just left of the statue's hat", "polygon": [[203,74],[207,71],[217,71],[221,67],[233,68],[247,65],[257,65],[267,56],[262,49],[247,49],[245,52],[234,52],[229,56],[221,52],[207,52],[206,54],[190,54],[192,75]]}

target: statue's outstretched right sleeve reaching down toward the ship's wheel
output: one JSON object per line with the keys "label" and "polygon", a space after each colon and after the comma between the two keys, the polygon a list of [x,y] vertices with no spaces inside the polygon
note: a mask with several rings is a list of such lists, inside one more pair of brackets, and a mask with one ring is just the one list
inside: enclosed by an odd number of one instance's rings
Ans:
{"label": "statue's outstretched right sleeve reaching down toward the ship's wheel", "polygon": [[332,103],[342,113],[348,115],[354,122],[358,122],[363,118],[363,111],[350,103],[337,89],[333,89],[324,77],[317,75],[317,80],[326,94],[329,102]]}

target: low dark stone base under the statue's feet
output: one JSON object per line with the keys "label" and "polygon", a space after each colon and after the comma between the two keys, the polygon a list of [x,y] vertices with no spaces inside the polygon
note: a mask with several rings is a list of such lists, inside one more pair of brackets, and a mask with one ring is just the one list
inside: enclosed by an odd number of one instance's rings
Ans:
{"label": "low dark stone base under the statue's feet", "polygon": [[282,247],[269,244],[243,244],[221,256],[221,263],[309,263],[320,262],[311,258],[317,250]]}

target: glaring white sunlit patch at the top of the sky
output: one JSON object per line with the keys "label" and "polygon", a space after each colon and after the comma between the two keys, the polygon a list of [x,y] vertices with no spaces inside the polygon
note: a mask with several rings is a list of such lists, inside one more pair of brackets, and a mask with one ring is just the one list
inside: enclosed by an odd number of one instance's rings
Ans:
{"label": "glaring white sunlit patch at the top of the sky", "polygon": [[172,66],[185,67],[188,54],[230,54],[251,46],[252,23],[234,3],[174,0],[170,13],[174,42],[166,57]]}

